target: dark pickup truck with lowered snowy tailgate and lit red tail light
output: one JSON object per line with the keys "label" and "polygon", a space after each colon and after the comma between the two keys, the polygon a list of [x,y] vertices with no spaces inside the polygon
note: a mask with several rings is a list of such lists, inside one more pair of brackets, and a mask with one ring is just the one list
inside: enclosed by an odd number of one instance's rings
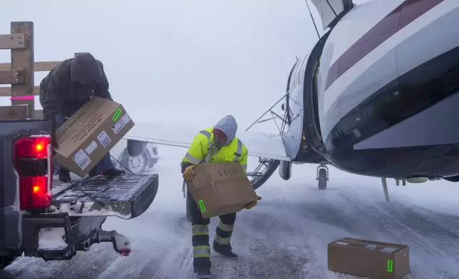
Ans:
{"label": "dark pickup truck with lowered snowy tailgate and lit red tail light", "polygon": [[16,257],[69,260],[94,243],[111,242],[128,256],[130,241],[103,231],[108,216],[143,214],[158,191],[158,174],[53,179],[51,122],[0,121],[0,270]]}

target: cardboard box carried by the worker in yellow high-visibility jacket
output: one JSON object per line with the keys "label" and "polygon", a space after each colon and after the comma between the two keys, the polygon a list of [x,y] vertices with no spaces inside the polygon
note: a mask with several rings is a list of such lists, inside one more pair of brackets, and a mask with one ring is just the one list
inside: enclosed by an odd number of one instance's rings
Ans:
{"label": "cardboard box carried by the worker in yellow high-visibility jacket", "polygon": [[257,201],[252,183],[238,162],[199,164],[195,174],[187,186],[204,218],[234,213]]}

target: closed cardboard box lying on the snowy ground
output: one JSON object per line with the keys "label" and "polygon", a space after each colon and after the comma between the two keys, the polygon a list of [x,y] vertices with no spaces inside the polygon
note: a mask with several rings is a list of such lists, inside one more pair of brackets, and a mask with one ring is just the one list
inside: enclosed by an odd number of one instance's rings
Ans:
{"label": "closed cardboard box lying on the snowy ground", "polygon": [[375,279],[399,279],[410,271],[406,245],[340,238],[329,243],[329,270]]}

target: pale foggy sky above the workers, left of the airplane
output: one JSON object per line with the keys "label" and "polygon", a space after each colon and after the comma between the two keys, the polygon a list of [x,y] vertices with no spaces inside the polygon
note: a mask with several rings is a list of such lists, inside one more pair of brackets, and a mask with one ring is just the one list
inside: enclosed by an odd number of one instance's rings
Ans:
{"label": "pale foggy sky above the workers, left of the airplane", "polygon": [[135,121],[202,127],[232,114],[245,128],[284,95],[295,56],[317,41],[303,0],[4,2],[0,33],[33,21],[36,61],[93,53]]}

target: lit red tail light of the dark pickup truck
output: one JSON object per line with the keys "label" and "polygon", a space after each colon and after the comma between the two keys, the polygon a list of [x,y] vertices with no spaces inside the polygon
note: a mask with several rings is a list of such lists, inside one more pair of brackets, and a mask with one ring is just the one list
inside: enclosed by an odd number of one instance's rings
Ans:
{"label": "lit red tail light of the dark pickup truck", "polygon": [[19,137],[13,143],[14,169],[19,175],[21,210],[46,209],[53,199],[51,137]]}

